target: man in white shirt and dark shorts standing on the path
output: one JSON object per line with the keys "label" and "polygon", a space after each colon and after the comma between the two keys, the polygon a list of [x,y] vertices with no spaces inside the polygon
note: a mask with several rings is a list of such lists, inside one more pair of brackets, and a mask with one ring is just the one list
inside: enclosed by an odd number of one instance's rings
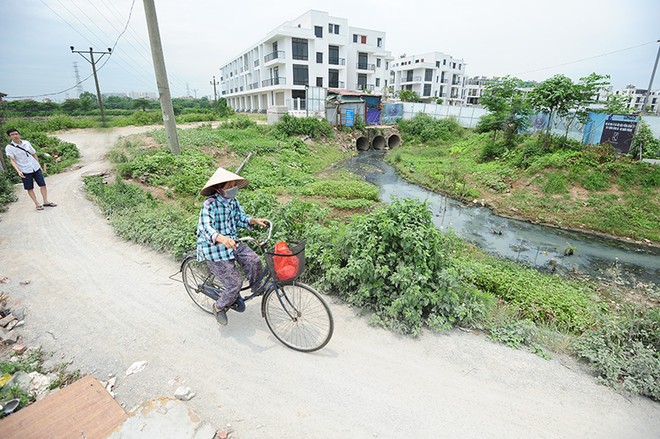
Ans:
{"label": "man in white shirt and dark shorts standing on the path", "polygon": [[[44,206],[57,206],[57,204],[48,201],[46,180],[37,159],[37,152],[30,142],[21,140],[21,133],[16,128],[8,129],[7,135],[11,138],[11,143],[5,147],[5,153],[7,153],[7,157],[9,157],[11,165],[18,173],[18,176],[23,180],[23,188],[28,191],[28,195],[34,201],[37,210],[44,210]],[[37,196],[34,193],[35,181],[41,190],[41,198],[43,198],[44,204],[39,204],[37,201]]]}

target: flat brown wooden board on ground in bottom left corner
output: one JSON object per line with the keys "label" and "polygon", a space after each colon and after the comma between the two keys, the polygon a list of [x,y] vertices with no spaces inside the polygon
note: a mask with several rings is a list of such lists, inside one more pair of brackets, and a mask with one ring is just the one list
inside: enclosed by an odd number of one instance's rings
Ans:
{"label": "flat brown wooden board on ground in bottom left corner", "polygon": [[91,375],[0,421],[3,439],[106,438],[126,419],[123,408]]}

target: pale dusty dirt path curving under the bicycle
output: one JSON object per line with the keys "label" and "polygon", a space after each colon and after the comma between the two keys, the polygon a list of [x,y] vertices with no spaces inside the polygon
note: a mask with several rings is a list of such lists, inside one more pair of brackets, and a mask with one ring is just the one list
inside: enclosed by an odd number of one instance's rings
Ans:
{"label": "pale dusty dirt path curving under the bicycle", "polygon": [[81,189],[83,174],[109,168],[120,134],[142,130],[61,135],[83,166],[48,178],[59,206],[37,212],[21,190],[0,221],[2,289],[27,308],[27,344],[83,374],[117,374],[126,409],[186,385],[194,411],[240,438],[659,436],[660,404],[474,334],[400,337],[336,302],[334,338],[315,354],[277,342],[254,303],[219,329],[168,279],[178,262],[117,238]]}

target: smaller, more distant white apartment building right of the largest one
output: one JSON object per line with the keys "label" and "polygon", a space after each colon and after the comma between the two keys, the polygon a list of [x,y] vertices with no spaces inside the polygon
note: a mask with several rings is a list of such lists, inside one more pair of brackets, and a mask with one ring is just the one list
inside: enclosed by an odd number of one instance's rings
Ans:
{"label": "smaller, more distant white apartment building right of the largest one", "polygon": [[442,52],[401,55],[392,62],[394,91],[412,90],[423,100],[465,104],[465,61]]}

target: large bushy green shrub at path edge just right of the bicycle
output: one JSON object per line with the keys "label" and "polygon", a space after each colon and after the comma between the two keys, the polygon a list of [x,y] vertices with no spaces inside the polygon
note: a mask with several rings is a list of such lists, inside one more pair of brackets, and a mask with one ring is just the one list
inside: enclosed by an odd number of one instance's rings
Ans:
{"label": "large bushy green shrub at path edge just right of the bicycle", "polygon": [[494,305],[451,265],[455,245],[433,225],[426,204],[394,199],[317,237],[309,268],[327,291],[373,311],[374,323],[419,334],[423,325],[474,325]]}

